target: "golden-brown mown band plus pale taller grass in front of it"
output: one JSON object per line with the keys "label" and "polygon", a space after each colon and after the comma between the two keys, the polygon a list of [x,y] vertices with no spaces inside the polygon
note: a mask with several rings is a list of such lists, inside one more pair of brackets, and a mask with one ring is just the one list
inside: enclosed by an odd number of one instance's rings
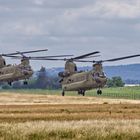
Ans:
{"label": "golden-brown mown band plus pale taller grass in front of it", "polygon": [[140,104],[1,105],[0,139],[139,140]]}

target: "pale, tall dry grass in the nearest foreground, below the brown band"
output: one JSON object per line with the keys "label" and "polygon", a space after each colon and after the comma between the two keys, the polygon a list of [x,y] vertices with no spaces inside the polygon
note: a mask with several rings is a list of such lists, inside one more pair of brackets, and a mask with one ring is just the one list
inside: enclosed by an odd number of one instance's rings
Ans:
{"label": "pale, tall dry grass in the nearest foreground, below the brown band", "polygon": [[139,140],[139,120],[37,121],[0,124],[6,140]]}

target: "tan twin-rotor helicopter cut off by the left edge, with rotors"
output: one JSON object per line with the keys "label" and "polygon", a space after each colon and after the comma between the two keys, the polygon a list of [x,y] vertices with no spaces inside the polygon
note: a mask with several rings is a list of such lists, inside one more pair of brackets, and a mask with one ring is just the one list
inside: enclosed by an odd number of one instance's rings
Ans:
{"label": "tan twin-rotor helicopter cut off by the left edge, with rotors", "polygon": [[[30,59],[38,60],[42,57],[28,57],[25,54],[43,52],[44,50],[26,51],[26,52],[16,52],[10,54],[0,55],[0,82],[7,82],[9,85],[14,81],[24,80],[24,84],[27,85],[27,79],[33,75],[33,70],[30,66]],[[20,56],[18,56],[20,55]],[[56,56],[46,56],[47,58],[57,58],[57,57],[68,57],[72,55],[56,55]],[[18,65],[6,65],[4,57],[10,57],[15,59],[20,59],[21,63]],[[45,58],[46,58],[45,57]]]}

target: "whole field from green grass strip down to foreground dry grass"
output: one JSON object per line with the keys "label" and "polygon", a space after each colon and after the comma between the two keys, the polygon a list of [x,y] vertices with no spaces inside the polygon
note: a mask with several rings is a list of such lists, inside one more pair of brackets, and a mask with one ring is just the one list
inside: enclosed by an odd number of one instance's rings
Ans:
{"label": "whole field from green grass strip down to foreground dry grass", "polygon": [[140,140],[140,100],[124,96],[139,91],[112,88],[102,96],[93,90],[85,97],[62,97],[61,91],[2,90],[0,140]]}

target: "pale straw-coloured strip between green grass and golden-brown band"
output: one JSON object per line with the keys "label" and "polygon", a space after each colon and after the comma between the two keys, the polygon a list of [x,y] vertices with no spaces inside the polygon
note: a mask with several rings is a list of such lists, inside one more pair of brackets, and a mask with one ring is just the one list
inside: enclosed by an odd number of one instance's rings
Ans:
{"label": "pale straw-coloured strip between green grass and golden-brown band", "polygon": [[24,93],[0,93],[0,104],[140,104],[140,100],[128,99],[107,99],[102,97],[82,97],[82,96],[65,96],[61,95],[39,95]]}

